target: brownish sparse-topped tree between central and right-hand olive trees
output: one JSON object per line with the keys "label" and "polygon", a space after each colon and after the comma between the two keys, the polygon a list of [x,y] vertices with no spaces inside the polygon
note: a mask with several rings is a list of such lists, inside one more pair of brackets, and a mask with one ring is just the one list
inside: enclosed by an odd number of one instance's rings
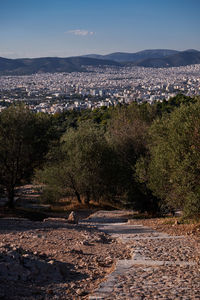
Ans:
{"label": "brownish sparse-topped tree between central and right-hand olive trees", "polygon": [[147,151],[148,128],[153,116],[148,105],[133,104],[115,111],[108,129],[109,142],[118,157],[121,201],[139,211],[157,210],[157,199],[136,177],[136,164]]}

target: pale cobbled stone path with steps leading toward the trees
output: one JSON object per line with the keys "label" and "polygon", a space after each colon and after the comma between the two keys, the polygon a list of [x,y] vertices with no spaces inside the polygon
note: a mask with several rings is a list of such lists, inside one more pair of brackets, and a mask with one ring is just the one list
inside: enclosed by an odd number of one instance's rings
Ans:
{"label": "pale cobbled stone path with steps leading toward the trees", "polygon": [[89,299],[200,299],[200,266],[193,240],[129,225],[123,214],[99,211],[84,221],[121,239],[132,253],[130,260],[117,262]]}

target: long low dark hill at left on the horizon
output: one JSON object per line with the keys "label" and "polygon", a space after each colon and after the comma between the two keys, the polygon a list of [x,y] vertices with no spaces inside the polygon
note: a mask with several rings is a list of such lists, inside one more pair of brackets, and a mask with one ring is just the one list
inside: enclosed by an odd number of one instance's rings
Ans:
{"label": "long low dark hill at left on the horizon", "polygon": [[28,75],[34,73],[83,72],[84,66],[119,66],[115,61],[87,57],[41,57],[7,59],[0,57],[0,75]]}

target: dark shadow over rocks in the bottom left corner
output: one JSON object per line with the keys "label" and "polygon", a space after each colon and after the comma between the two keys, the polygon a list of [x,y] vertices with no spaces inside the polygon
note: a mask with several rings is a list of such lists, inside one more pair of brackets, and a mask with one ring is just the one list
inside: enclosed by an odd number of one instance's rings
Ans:
{"label": "dark shadow over rocks in the bottom left corner", "polygon": [[40,297],[45,296],[46,286],[87,277],[76,272],[73,264],[34,255],[22,248],[4,246],[0,253],[0,299],[44,299]]}

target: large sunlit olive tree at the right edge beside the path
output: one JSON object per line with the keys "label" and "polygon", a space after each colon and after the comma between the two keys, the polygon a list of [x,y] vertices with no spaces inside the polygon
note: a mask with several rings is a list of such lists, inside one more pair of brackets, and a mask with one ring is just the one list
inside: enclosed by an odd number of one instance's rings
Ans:
{"label": "large sunlit olive tree at the right edge beside the path", "polygon": [[[172,209],[200,213],[200,106],[182,105],[150,129],[148,187]],[[144,169],[143,169],[144,170]]]}

